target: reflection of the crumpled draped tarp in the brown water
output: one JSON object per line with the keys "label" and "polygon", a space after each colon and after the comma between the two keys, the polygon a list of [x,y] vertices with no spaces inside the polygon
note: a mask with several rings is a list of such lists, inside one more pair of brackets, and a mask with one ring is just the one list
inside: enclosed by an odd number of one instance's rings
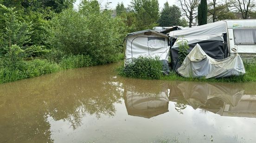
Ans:
{"label": "reflection of the crumpled draped tarp in the brown water", "polygon": [[178,85],[178,88],[188,104],[194,109],[200,107],[214,113],[223,107],[224,102],[233,107],[237,106],[244,92],[239,84],[232,85],[230,83],[183,82]]}

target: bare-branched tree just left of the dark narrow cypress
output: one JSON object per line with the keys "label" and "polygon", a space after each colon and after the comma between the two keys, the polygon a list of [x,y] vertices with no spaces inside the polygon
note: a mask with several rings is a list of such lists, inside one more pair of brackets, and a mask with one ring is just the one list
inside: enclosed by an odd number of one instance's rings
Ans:
{"label": "bare-branched tree just left of the dark narrow cypress", "polygon": [[192,21],[197,14],[196,9],[198,7],[199,0],[179,0],[181,9],[183,10],[183,14],[189,20],[189,27],[192,26]]}

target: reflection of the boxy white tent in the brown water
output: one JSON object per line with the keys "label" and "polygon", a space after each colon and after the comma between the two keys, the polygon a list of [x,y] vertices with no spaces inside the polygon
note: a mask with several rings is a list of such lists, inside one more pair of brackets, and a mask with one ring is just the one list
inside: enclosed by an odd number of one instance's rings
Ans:
{"label": "reflection of the boxy white tent in the brown water", "polygon": [[168,112],[169,99],[167,89],[158,95],[125,90],[124,101],[128,115],[152,118]]}

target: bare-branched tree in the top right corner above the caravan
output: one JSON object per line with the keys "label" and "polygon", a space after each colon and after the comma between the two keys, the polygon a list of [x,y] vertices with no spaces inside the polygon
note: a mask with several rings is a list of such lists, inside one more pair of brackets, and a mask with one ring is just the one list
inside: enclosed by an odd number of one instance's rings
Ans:
{"label": "bare-branched tree in the top right corner above the caravan", "polygon": [[254,0],[230,0],[229,4],[229,7],[234,7],[238,12],[242,13],[243,19],[249,18],[250,13],[255,11],[256,7]]}

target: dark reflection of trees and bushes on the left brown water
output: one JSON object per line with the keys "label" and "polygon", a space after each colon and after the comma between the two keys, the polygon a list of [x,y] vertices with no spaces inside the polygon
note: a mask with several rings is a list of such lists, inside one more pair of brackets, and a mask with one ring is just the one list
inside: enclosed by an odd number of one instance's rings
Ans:
{"label": "dark reflection of trees and bushes on the left brown water", "polygon": [[114,103],[122,99],[122,84],[113,77],[114,67],[68,70],[1,84],[1,140],[53,142],[49,116],[69,121],[73,129],[86,114],[113,116]]}

